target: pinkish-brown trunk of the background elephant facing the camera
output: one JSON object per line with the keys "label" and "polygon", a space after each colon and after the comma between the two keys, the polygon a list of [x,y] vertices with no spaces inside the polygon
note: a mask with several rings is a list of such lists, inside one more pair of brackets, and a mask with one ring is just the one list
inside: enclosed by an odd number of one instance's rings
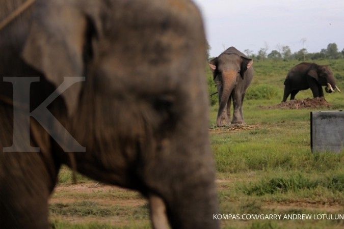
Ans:
{"label": "pinkish-brown trunk of the background elephant facing the camera", "polygon": [[222,112],[225,109],[228,103],[230,94],[232,93],[232,90],[234,88],[235,80],[236,80],[236,72],[234,70],[229,70],[229,71],[224,72],[222,74],[222,80],[223,80],[223,92],[221,95],[219,111],[218,111],[218,116],[216,120],[216,125],[218,127],[222,126],[222,123],[221,123]]}

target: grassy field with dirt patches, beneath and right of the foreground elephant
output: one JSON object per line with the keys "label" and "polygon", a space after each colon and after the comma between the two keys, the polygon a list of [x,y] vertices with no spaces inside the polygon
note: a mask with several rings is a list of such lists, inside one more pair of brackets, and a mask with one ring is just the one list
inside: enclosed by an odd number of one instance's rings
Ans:
{"label": "grassy field with dirt patches, beneath and right of the foreground elephant", "polygon": [[[210,130],[223,214],[344,214],[344,153],[311,153],[309,112],[314,109],[258,107],[281,101],[285,76],[297,63],[255,62],[251,96],[244,102],[245,121],[255,128]],[[344,60],[317,63],[332,68],[344,91]],[[206,71],[211,92],[215,88]],[[261,85],[274,93],[264,96]],[[307,97],[310,90],[296,96]],[[344,108],[344,94],[325,97],[331,109]],[[215,126],[217,108],[216,104],[210,108],[210,127]],[[71,185],[70,171],[62,169],[50,200],[53,228],[150,228],[147,203],[140,194],[81,176],[78,182]],[[343,220],[222,220],[221,224],[224,228],[344,227]]]}

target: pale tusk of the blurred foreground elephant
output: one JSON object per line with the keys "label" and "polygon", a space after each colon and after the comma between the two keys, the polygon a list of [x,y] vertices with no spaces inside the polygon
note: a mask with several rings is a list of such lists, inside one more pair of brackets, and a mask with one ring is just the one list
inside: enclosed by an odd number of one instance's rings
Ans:
{"label": "pale tusk of the blurred foreground elephant", "polygon": [[167,214],[166,205],[161,197],[156,195],[149,196],[150,217],[154,229],[168,229],[170,228]]}

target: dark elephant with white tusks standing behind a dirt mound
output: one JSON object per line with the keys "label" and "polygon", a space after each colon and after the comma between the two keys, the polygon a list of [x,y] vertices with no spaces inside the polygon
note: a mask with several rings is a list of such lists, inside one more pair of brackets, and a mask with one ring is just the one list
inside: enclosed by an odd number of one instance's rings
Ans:
{"label": "dark elephant with white tusks standing behind a dirt mound", "polygon": [[294,100],[299,91],[309,88],[312,90],[314,98],[324,97],[322,86],[326,86],[325,91],[327,93],[332,93],[335,90],[340,92],[328,66],[314,63],[298,64],[290,69],[285,78],[282,102],[285,102],[290,94],[290,100]]}

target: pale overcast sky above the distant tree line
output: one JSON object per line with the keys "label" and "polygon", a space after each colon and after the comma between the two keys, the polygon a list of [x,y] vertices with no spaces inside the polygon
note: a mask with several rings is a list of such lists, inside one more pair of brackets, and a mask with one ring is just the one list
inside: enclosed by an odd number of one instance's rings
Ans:
{"label": "pale overcast sky above the distant tree line", "polygon": [[201,8],[210,55],[234,46],[255,53],[289,45],[318,52],[335,42],[344,48],[344,0],[194,0]]}

